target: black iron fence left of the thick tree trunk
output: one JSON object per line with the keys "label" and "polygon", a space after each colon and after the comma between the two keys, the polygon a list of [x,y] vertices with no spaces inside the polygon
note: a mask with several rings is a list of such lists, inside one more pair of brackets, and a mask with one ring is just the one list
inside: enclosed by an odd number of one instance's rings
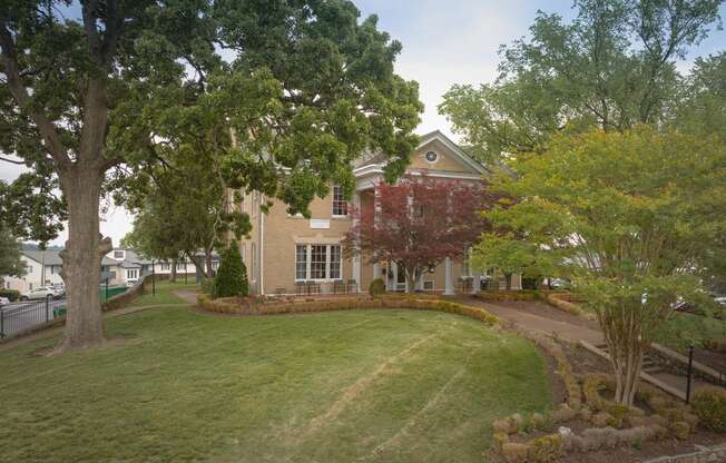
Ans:
{"label": "black iron fence left of the thick tree trunk", "polygon": [[24,332],[66,314],[66,299],[47,297],[0,307],[0,338]]}

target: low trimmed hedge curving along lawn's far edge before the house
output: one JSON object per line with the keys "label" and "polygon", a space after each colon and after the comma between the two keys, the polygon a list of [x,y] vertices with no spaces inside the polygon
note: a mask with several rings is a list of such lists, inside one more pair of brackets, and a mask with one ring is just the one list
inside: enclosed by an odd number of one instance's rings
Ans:
{"label": "low trimmed hedge curving along lawn's far edge before the house", "polygon": [[478,319],[488,326],[499,323],[499,318],[481,307],[472,307],[448,301],[418,297],[355,297],[318,301],[271,301],[264,304],[239,305],[230,299],[210,299],[205,294],[197,296],[199,307],[220,314],[236,315],[282,315],[332,311],[356,311],[365,308],[411,308],[435,311],[463,315]]}

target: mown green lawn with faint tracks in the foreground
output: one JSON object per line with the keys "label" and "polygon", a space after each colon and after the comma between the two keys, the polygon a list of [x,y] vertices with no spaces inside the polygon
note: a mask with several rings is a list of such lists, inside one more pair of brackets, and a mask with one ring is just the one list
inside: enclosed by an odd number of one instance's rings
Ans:
{"label": "mown green lawn with faint tracks in the foreground", "polygon": [[492,420],[551,401],[529,342],[455,315],[165,307],[107,326],[92,352],[0,352],[0,461],[481,462]]}

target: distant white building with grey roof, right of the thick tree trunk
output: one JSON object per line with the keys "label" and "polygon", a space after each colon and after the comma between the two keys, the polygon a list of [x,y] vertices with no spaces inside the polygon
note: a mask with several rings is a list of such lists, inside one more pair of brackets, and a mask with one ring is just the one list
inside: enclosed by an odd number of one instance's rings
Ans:
{"label": "distant white building with grey roof, right of the thick tree trunk", "polygon": [[[203,257],[202,257],[203,258]],[[139,256],[134,249],[115,248],[104,256],[104,278],[108,277],[108,284],[133,285],[141,276],[150,274],[168,275],[171,273],[171,263],[166,260],[151,260]],[[212,254],[212,268],[216,270],[219,267],[219,255]],[[195,274],[194,263],[184,259],[177,262],[177,275]]]}

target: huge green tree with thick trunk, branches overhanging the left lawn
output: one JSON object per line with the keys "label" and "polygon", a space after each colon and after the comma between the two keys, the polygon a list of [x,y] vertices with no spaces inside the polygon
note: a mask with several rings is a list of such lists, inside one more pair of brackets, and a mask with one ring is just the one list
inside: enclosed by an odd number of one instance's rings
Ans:
{"label": "huge green tree with thick trunk, branches overhanging the left lawn", "polygon": [[210,168],[294,211],[331,180],[350,189],[363,150],[390,156],[389,177],[402,173],[418,86],[393,72],[401,45],[359,17],[345,0],[2,3],[2,150],[52,173],[68,213],[59,351],[104,339],[97,285],[111,243],[99,235],[99,198],[153,164],[173,168],[157,149],[171,126],[160,116],[190,107],[210,118],[203,127],[219,124],[205,140]]}

